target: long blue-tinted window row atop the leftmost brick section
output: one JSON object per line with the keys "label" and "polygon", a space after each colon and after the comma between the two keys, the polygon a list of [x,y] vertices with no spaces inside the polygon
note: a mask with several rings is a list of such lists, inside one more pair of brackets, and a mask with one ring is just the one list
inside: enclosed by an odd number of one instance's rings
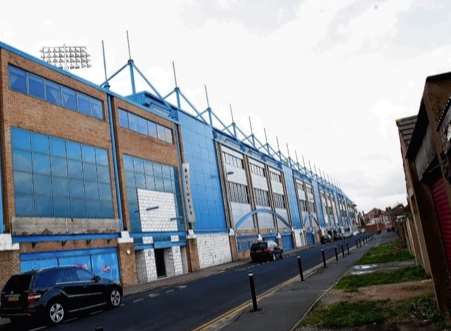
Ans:
{"label": "long blue-tinted window row atop the leftmost brick section", "polygon": [[8,66],[8,73],[9,87],[14,91],[103,120],[102,102],[93,97],[12,65]]}

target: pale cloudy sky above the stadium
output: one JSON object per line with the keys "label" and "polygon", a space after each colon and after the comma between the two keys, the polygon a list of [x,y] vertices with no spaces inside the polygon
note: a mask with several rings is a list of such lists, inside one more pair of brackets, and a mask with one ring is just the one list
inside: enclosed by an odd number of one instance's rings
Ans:
{"label": "pale cloudy sky above the stadium", "polygon": [[[395,120],[418,113],[427,76],[451,70],[451,1],[7,1],[0,40],[39,56],[86,45],[100,84],[128,59],[165,95],[180,88],[263,140],[278,137],[346,192],[359,210],[405,203]],[[138,90],[149,90],[138,81]],[[126,73],[112,90],[131,93]]]}

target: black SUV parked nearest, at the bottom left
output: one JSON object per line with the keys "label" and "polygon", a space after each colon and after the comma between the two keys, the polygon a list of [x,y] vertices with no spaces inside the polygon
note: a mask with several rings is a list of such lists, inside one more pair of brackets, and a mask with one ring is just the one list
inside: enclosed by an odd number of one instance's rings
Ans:
{"label": "black SUV parked nearest, at the bottom left", "polygon": [[59,324],[74,312],[118,307],[122,288],[78,267],[55,267],[12,276],[1,293],[0,316],[19,322],[23,317],[44,317]]}

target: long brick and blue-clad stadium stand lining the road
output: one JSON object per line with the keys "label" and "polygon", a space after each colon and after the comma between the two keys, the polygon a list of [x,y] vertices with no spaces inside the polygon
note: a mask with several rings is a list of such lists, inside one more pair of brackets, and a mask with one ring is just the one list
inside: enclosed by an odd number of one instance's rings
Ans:
{"label": "long brick and blue-clad stadium stand lining the road", "polygon": [[0,109],[2,284],[80,265],[127,286],[357,224],[340,188],[235,123],[120,96],[2,43]]}

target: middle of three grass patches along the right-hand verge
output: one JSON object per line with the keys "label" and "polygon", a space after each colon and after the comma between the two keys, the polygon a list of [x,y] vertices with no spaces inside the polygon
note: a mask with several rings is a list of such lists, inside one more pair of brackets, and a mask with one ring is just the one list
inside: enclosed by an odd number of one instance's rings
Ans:
{"label": "middle of three grass patches along the right-hand verge", "polygon": [[335,285],[335,288],[345,291],[355,291],[359,287],[402,283],[428,278],[420,266],[406,267],[395,271],[373,272],[365,275],[345,276]]}

